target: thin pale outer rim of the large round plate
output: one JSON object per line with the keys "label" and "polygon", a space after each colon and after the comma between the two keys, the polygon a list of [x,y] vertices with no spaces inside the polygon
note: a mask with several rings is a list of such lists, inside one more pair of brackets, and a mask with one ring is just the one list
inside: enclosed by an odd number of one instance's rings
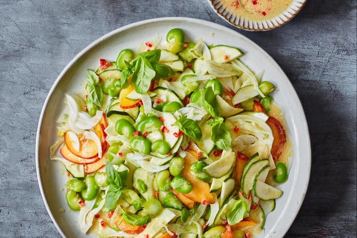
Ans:
{"label": "thin pale outer rim of the large round plate", "polygon": [[[85,49],[83,49],[80,53],[78,53],[67,65],[66,67],[62,70],[61,74],[57,77],[57,79],[55,80],[54,84],[52,85],[52,87],[50,88],[47,97],[44,101],[43,107],[41,109],[41,114],[39,117],[39,122],[38,122],[38,126],[37,126],[37,132],[36,132],[36,144],[35,144],[35,162],[36,162],[36,174],[37,174],[37,180],[38,180],[38,184],[39,184],[39,188],[40,188],[40,193],[41,193],[41,197],[43,200],[43,203],[46,207],[47,213],[49,215],[49,217],[51,218],[51,220],[53,221],[53,223],[55,224],[58,232],[63,236],[66,237],[64,232],[62,231],[62,229],[60,228],[59,224],[57,223],[57,221],[54,218],[54,215],[52,213],[52,210],[50,209],[48,203],[47,203],[47,199],[46,196],[44,194],[44,189],[42,186],[42,180],[41,180],[41,175],[40,175],[40,163],[39,163],[39,149],[40,149],[40,134],[41,134],[41,126],[42,126],[42,120],[43,120],[43,116],[48,104],[48,101],[50,99],[50,97],[52,96],[53,92],[55,91],[55,88],[57,87],[57,85],[59,84],[59,82],[61,81],[62,77],[64,76],[64,74],[67,72],[68,69],[70,69],[72,67],[72,65],[77,62],[77,60],[82,57],[87,51],[89,51],[90,49],[92,49],[94,46],[96,46],[98,43],[100,43],[101,41],[110,38],[113,35],[116,35],[120,32],[135,28],[135,27],[139,27],[139,26],[143,26],[143,25],[147,25],[150,23],[155,23],[155,22],[160,22],[160,21],[188,21],[188,22],[192,22],[192,23],[196,23],[196,24],[200,24],[200,25],[205,25],[208,27],[215,27],[218,29],[224,29],[225,31],[230,31],[232,34],[239,34],[240,37],[243,37],[245,40],[249,41],[253,46],[257,47],[258,49],[261,50],[262,54],[267,57],[272,64],[275,64],[277,70],[279,71],[279,73],[283,74],[288,80],[287,80],[287,84],[293,88],[292,83],[290,82],[289,78],[286,76],[286,74],[284,73],[283,69],[276,63],[276,61],[267,53],[265,52],[258,44],[256,44],[255,42],[253,42],[252,40],[250,40],[249,38],[245,37],[244,35],[240,34],[239,32],[236,32],[230,28],[227,28],[225,26],[219,25],[218,23],[214,23],[214,22],[210,22],[210,21],[206,21],[206,20],[201,20],[201,19],[196,19],[196,18],[190,18],[190,17],[161,17],[161,18],[152,18],[152,19],[147,19],[147,20],[143,20],[143,21],[137,21],[134,23],[131,23],[129,25],[120,27],[116,30],[113,30],[107,34],[105,34],[104,36],[101,36],[100,38],[98,38],[97,40],[95,40],[94,42],[92,42],[91,44],[89,44],[88,46],[85,47]],[[301,102],[297,96],[297,93],[295,91],[295,89],[293,88],[292,93],[294,94],[294,97],[296,97],[297,100],[297,107],[299,109],[299,112],[301,114],[301,117],[304,119],[302,124],[303,124],[303,128],[305,128],[305,139],[307,142],[307,154],[308,154],[308,159],[307,159],[307,164],[306,164],[306,173],[305,173],[305,183],[303,184],[303,191],[301,191],[301,197],[299,198],[300,203],[297,204],[296,209],[293,212],[293,215],[291,217],[291,219],[289,220],[287,226],[283,229],[282,232],[282,236],[283,237],[288,229],[290,228],[290,226],[292,225],[293,221],[295,220],[298,211],[300,210],[300,207],[303,203],[303,200],[305,198],[305,195],[307,194],[307,190],[308,190],[308,185],[309,185],[309,180],[310,180],[310,173],[311,173],[311,142],[310,142],[310,134],[309,134],[309,127],[307,124],[307,120],[306,120],[306,116],[305,113],[303,111]]]}

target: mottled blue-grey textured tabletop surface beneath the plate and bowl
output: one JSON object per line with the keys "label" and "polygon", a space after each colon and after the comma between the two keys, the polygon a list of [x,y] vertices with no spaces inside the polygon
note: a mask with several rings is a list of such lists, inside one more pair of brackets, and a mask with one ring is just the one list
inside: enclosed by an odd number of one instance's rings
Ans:
{"label": "mottled blue-grey textured tabletop surface beneath the plate and bowl", "polygon": [[[0,1],[0,236],[58,237],[38,188],[35,136],[66,64],[100,36],[165,16],[231,27],[206,0]],[[356,1],[308,1],[287,25],[241,34],[285,71],[307,115],[309,191],[287,237],[356,235]]]}

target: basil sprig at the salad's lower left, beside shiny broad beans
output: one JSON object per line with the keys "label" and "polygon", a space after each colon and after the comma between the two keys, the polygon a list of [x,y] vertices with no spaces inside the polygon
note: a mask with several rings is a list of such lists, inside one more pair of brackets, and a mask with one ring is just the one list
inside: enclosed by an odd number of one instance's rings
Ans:
{"label": "basil sprig at the salad's lower left, beside shiny broad beans", "polygon": [[108,161],[106,165],[107,183],[109,184],[108,193],[106,196],[105,205],[107,208],[113,208],[118,201],[127,177],[129,175],[127,170],[118,172],[113,165]]}

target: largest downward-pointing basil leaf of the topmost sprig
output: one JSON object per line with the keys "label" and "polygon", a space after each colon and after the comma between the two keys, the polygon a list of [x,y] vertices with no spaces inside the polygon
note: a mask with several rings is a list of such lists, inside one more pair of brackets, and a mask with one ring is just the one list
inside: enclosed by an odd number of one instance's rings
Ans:
{"label": "largest downward-pointing basil leaf of the topmost sprig", "polygon": [[154,77],[155,70],[152,68],[150,62],[142,55],[139,55],[132,78],[135,91],[140,94],[147,92],[150,87],[151,79]]}

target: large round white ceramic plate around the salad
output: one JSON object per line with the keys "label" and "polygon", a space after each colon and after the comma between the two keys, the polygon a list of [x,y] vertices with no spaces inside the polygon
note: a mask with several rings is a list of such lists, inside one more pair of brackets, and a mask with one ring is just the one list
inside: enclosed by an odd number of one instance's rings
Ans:
{"label": "large round white ceramic plate around the salad", "polygon": [[[63,108],[64,93],[80,91],[86,69],[96,68],[98,59],[115,60],[120,49],[137,49],[139,43],[157,34],[166,36],[172,28],[183,29],[187,39],[202,37],[208,44],[238,47],[245,53],[241,57],[243,62],[255,72],[265,69],[263,79],[271,81],[278,88],[273,96],[285,112],[289,128],[287,133],[294,145],[294,158],[289,179],[280,186],[284,195],[277,199],[275,210],[267,217],[265,230],[256,237],[283,237],[299,211],[310,176],[310,138],[301,103],[283,70],[257,44],[226,27],[192,18],[151,19],[117,29],[86,47],[62,71],[43,105],[36,137],[37,177],[49,216],[64,237],[92,237],[81,233],[78,212],[70,211],[66,204],[66,176],[63,169],[58,162],[49,160],[48,147],[57,139],[56,120]],[[61,208],[65,212],[61,213]]]}

